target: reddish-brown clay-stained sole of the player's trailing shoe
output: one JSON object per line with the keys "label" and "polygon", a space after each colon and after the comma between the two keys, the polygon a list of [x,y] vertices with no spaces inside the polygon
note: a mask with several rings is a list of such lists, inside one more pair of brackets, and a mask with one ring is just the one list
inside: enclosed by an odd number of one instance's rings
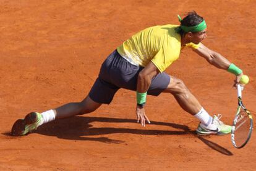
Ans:
{"label": "reddish-brown clay-stained sole of the player's trailing shoe", "polygon": [[26,135],[25,126],[35,123],[38,120],[36,112],[31,112],[25,116],[24,119],[18,119],[12,126],[11,135],[12,136],[22,136]]}

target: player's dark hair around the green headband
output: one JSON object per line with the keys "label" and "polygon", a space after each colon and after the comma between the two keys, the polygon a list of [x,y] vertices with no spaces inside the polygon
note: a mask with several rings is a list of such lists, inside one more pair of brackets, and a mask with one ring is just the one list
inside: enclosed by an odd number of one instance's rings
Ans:
{"label": "player's dark hair around the green headband", "polygon": [[[203,21],[203,17],[201,17],[200,15],[197,14],[197,12],[192,10],[191,12],[187,13],[187,16],[184,19],[182,19],[181,25],[190,27],[190,26],[198,25],[202,23],[202,21]],[[182,36],[184,35],[185,32],[183,30],[179,30],[178,33]]]}

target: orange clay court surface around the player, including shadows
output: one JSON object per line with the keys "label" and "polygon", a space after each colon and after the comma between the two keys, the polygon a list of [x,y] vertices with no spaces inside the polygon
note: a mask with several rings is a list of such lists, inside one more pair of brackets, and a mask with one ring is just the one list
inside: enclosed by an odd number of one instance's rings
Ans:
{"label": "orange clay court surface around the player, including shadows", "polygon": [[[255,131],[234,149],[230,135],[197,136],[198,121],[171,94],[148,96],[151,124],[136,123],[135,92],[120,90],[97,111],[9,136],[15,120],[81,101],[101,63],[139,30],[178,24],[196,10],[203,44],[243,69],[245,106],[256,111],[256,1],[0,1],[0,170],[256,170]],[[184,80],[210,114],[233,122],[234,76],[184,49],[167,73]],[[256,116],[254,115],[255,119]]]}

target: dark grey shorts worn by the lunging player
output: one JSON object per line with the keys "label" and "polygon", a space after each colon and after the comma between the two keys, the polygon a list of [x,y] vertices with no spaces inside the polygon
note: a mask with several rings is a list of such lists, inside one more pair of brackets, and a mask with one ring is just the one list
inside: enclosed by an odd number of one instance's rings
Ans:
{"label": "dark grey shorts worn by the lunging player", "polygon": [[[96,79],[89,96],[99,103],[109,104],[119,88],[137,90],[137,77],[143,67],[130,64],[115,50],[101,65],[100,73]],[[158,73],[151,80],[148,93],[158,96],[169,85],[170,77],[167,73]]]}

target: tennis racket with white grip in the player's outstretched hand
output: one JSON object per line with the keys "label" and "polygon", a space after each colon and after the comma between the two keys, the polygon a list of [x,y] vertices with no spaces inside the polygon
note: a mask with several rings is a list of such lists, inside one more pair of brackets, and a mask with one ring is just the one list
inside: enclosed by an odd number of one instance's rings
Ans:
{"label": "tennis racket with white grip in the player's outstretched hand", "polygon": [[238,107],[231,130],[231,141],[235,148],[243,148],[252,135],[252,115],[242,103],[242,89],[240,84],[237,85]]}

